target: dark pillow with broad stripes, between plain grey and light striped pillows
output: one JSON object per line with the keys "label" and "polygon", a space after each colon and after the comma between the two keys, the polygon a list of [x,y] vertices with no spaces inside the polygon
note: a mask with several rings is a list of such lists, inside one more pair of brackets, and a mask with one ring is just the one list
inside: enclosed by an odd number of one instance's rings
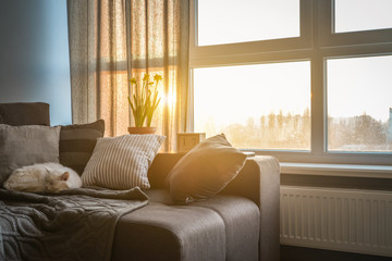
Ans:
{"label": "dark pillow with broad stripes, between plain grey and light striped pillows", "polygon": [[61,126],[60,163],[82,175],[93,154],[97,138],[103,137],[105,121]]}

